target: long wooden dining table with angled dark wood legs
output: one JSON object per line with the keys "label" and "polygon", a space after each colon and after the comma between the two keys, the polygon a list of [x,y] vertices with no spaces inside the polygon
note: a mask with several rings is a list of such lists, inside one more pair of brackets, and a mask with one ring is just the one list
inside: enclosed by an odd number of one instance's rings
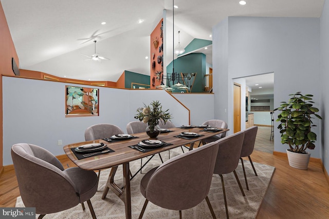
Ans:
{"label": "long wooden dining table with angled dark wood legs", "polygon": [[[142,140],[151,139],[145,132],[134,134],[132,138],[122,141],[110,141],[107,142],[105,140],[95,140],[88,142],[80,142],[75,144],[70,144],[64,146],[64,151],[66,155],[70,158],[72,162],[74,162],[78,167],[85,170],[101,170],[106,168],[112,168],[111,173],[108,176],[108,180],[106,186],[103,191],[102,199],[106,197],[106,194],[109,189],[115,192],[121,200],[124,202],[125,206],[125,215],[126,218],[132,217],[131,210],[131,188],[130,188],[130,180],[131,180],[131,172],[129,169],[129,162],[138,160],[143,157],[153,156],[157,153],[167,151],[176,147],[190,145],[189,149],[192,150],[194,146],[194,142],[204,140],[205,138],[227,132],[229,129],[221,129],[217,132],[205,131],[204,128],[191,127],[191,128],[171,128],[169,132],[160,133],[156,139],[162,142],[169,144],[169,146],[157,147],[153,150],[148,150],[147,152],[141,152],[139,150],[133,149],[130,146],[137,145]],[[199,136],[192,138],[181,138],[175,137],[179,136],[181,132],[194,132]],[[108,136],[111,137],[111,136]],[[183,136],[184,137],[184,136]],[[155,139],[155,138],[152,138]],[[75,148],[92,143],[103,143],[106,144],[108,148],[114,150],[114,152],[110,153],[100,153],[96,156],[90,156],[86,158],[79,158],[72,151]],[[114,183],[114,175],[119,165],[123,167],[123,187],[119,187]]]}

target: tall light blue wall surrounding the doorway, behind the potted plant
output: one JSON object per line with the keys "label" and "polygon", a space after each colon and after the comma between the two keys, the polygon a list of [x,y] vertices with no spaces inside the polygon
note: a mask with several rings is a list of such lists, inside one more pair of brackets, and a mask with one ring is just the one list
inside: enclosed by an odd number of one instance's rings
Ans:
{"label": "tall light blue wall surrounding the doorway, behind the potted plant", "polygon": [[[215,107],[221,105],[215,117],[227,117],[232,124],[231,78],[265,72],[275,72],[275,107],[288,94],[302,91],[314,94],[320,108],[319,18],[228,17],[214,26],[212,36]],[[318,120],[315,124],[320,125]],[[314,131],[321,139],[320,127]],[[275,129],[275,151],[286,148]],[[320,150],[317,141],[311,156],[320,158]]]}

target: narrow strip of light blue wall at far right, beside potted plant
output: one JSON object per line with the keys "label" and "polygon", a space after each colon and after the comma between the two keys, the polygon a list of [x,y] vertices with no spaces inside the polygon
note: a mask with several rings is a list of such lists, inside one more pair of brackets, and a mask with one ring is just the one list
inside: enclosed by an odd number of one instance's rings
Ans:
{"label": "narrow strip of light blue wall at far right, beside potted plant", "polygon": [[326,120],[326,114],[329,114],[329,1],[325,1],[323,6],[322,15],[320,18],[320,71],[321,71],[321,136],[318,136],[318,141],[321,145],[321,158],[326,171],[329,171],[329,120]]}

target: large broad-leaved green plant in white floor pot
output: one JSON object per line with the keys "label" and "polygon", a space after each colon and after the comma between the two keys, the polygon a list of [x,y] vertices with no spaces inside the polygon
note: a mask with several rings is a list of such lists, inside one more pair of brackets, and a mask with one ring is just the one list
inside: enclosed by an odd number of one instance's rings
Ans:
{"label": "large broad-leaved green plant in white floor pot", "polygon": [[[307,169],[310,152],[313,150],[317,135],[312,131],[316,125],[313,124],[315,117],[322,120],[316,114],[319,109],[313,107],[312,94],[303,95],[301,92],[290,94],[288,102],[282,104],[276,110],[281,111],[277,122],[281,133],[281,143],[289,145],[287,149],[288,161],[291,167]],[[315,117],[314,117],[315,116]]]}

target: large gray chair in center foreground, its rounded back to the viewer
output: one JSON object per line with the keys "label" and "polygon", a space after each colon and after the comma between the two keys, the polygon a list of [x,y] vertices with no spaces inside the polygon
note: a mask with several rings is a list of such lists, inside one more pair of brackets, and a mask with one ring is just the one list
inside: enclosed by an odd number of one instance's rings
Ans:
{"label": "large gray chair in center foreground, its rounded back to the viewer", "polygon": [[[142,218],[148,202],[170,209],[192,208],[206,199],[213,218],[208,192],[218,151],[218,143],[179,154],[161,166],[145,174],[140,182],[140,192],[146,198],[139,218]],[[200,165],[202,164],[202,165]]]}

